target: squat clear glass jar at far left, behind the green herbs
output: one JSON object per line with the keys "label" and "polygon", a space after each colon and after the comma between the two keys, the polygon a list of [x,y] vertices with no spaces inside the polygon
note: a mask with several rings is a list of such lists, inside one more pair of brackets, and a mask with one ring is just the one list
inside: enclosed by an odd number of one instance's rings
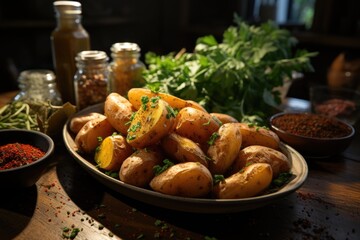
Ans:
{"label": "squat clear glass jar at far left, behind the green herbs", "polygon": [[52,105],[62,105],[53,71],[45,69],[22,71],[18,78],[18,84],[20,91],[14,97],[15,101],[31,104],[50,102]]}

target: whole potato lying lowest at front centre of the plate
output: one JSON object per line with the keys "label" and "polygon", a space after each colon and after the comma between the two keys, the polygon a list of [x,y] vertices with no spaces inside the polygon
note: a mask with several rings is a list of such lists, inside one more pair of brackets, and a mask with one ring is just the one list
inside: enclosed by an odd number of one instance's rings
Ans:
{"label": "whole potato lying lowest at front centre of the plate", "polygon": [[198,162],[173,165],[150,182],[150,187],[156,192],[192,198],[208,195],[212,185],[210,171]]}

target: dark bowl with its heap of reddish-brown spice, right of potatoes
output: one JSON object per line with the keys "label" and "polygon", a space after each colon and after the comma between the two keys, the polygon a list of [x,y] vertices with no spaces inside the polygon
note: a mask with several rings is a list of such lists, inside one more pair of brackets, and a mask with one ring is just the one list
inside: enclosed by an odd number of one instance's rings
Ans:
{"label": "dark bowl with its heap of reddish-brown spice, right of potatoes", "polygon": [[306,157],[330,157],[351,144],[355,129],[339,120],[313,113],[278,113],[270,118],[280,140]]}

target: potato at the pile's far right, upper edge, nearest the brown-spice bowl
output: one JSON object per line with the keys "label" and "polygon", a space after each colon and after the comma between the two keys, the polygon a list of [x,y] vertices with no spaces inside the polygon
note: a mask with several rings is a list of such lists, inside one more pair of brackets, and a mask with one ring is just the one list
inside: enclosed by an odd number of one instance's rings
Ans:
{"label": "potato at the pile's far right, upper edge, nearest the brown-spice bowl", "polygon": [[273,149],[279,149],[280,139],[270,129],[252,126],[247,123],[238,123],[242,135],[242,147],[261,145]]}

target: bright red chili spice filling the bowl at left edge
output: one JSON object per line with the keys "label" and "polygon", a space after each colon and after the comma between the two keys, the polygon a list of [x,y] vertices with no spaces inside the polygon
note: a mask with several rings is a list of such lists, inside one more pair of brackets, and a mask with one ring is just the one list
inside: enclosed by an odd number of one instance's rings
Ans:
{"label": "bright red chili spice filling the bowl at left edge", "polygon": [[9,143],[0,146],[0,170],[27,165],[44,155],[45,152],[30,144]]}

